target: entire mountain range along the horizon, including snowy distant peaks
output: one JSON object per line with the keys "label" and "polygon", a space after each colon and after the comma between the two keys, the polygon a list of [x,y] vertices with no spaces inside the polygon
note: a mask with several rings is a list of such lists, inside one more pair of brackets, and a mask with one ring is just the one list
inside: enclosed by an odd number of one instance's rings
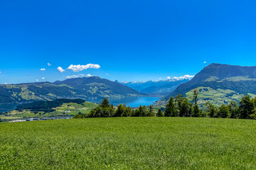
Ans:
{"label": "entire mountain range along the horizon, including snowy distant peaks", "polygon": [[63,81],[0,85],[0,103],[47,101],[56,98],[122,98],[132,96],[163,96],[166,103],[171,96],[182,94],[188,99],[193,90],[199,92],[198,103],[210,101],[216,106],[240,101],[243,95],[256,96],[256,67],[210,64],[193,79],[123,82],[100,77],[83,77]]}

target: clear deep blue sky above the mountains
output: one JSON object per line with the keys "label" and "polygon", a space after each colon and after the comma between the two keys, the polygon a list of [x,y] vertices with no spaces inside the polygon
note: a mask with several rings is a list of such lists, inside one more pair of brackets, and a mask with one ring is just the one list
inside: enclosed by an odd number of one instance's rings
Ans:
{"label": "clear deep blue sky above the mountains", "polygon": [[[234,0],[1,1],[0,84],[78,74],[146,81],[212,62],[256,65],[255,8]],[[90,63],[100,68],[67,69]]]}

